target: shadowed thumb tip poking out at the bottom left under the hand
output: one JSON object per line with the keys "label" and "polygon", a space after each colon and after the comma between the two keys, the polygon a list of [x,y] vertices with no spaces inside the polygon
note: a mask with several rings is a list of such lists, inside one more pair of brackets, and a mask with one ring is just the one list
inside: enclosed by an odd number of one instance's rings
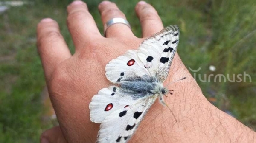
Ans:
{"label": "shadowed thumb tip poking out at the bottom left under the hand", "polygon": [[61,132],[61,128],[55,126],[42,133],[40,143],[67,143],[67,141]]}

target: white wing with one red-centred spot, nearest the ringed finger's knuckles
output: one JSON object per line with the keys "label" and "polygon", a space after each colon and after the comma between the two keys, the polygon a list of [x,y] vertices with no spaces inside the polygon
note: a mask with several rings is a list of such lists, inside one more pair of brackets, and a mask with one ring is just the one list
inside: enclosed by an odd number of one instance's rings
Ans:
{"label": "white wing with one red-centred spot, nearest the ringed finger's knuckles", "polygon": [[136,50],[128,50],[125,55],[111,60],[106,65],[105,70],[108,80],[113,83],[127,78],[142,78],[145,75],[150,75],[137,56]]}

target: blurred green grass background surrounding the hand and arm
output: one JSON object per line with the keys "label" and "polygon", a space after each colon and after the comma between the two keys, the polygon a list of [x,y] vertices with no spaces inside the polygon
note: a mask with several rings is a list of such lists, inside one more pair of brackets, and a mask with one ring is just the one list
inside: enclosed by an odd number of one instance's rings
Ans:
{"label": "blurred green grass background surrounding the hand and arm", "polygon": [[[97,9],[101,0],[85,1],[102,31]],[[140,22],[134,12],[137,0],[113,0],[126,14],[132,30],[140,37]],[[34,0],[11,7],[0,14],[0,142],[38,142],[41,132],[52,126],[42,122],[46,112],[41,102],[45,86],[41,61],[36,50],[36,25],[44,17],[60,25],[70,50],[73,42],[66,26],[66,6],[71,0]],[[242,123],[256,129],[256,6],[254,0],[148,0],[165,26],[180,27],[178,53],[187,67],[204,74],[242,74],[252,82],[201,82],[215,105],[229,110]],[[209,70],[214,65],[216,71]],[[193,73],[192,73],[193,74]],[[213,79],[211,80],[213,81]]]}

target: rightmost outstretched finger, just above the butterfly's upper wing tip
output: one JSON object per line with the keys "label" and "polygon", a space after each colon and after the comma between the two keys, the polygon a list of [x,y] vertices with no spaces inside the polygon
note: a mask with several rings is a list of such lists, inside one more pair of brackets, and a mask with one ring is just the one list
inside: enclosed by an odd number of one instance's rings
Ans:
{"label": "rightmost outstretched finger, just above the butterfly's upper wing tip", "polygon": [[163,29],[161,18],[150,4],[140,1],[135,11],[140,19],[143,37],[151,36]]}

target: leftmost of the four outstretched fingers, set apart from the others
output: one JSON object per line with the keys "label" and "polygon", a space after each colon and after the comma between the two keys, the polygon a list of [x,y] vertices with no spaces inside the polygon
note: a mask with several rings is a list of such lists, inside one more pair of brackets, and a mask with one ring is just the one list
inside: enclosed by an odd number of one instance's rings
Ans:
{"label": "leftmost of the four outstretched fingers, set apart from the others", "polygon": [[38,23],[37,47],[48,81],[56,65],[71,56],[57,22],[46,18]]}

